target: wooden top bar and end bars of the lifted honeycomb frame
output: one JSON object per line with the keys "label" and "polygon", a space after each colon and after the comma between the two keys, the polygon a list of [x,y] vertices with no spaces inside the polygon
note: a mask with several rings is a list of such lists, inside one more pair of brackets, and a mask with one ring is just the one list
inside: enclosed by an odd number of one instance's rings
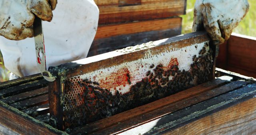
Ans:
{"label": "wooden top bar and end bars of the lifted honeycomb frame", "polygon": [[[173,38],[168,38],[165,40],[159,40],[154,43],[160,43],[158,46],[146,48],[144,50],[138,50],[130,53],[120,52],[109,52],[106,54],[102,54],[97,57],[86,58],[84,60],[79,60],[78,62],[73,62],[73,64],[66,64],[59,67],[55,67],[50,69],[50,71],[56,75],[56,81],[49,84],[49,103],[50,103],[50,119],[55,123],[55,126],[58,129],[64,129],[64,102],[65,102],[65,81],[72,80],[76,76],[83,75],[85,73],[90,73],[92,71],[97,71],[98,69],[104,69],[107,67],[112,67],[116,65],[121,65],[125,62],[133,62],[134,60],[144,60],[145,55],[159,55],[161,56],[162,52],[166,52],[168,48],[174,50],[180,50],[178,48],[184,48],[186,46],[191,46],[192,48],[197,48],[199,44],[204,42],[209,42],[209,38],[204,32],[197,32],[192,34],[186,34],[184,36],[177,36]],[[215,46],[210,46],[213,50]],[[187,52],[186,50],[183,50]],[[167,51],[168,52],[168,51]],[[215,58],[214,54],[213,58]],[[133,56],[133,57],[131,57]],[[136,57],[134,57],[136,56]],[[167,57],[167,56],[166,56]],[[190,56],[191,57],[191,56]],[[97,60],[97,58],[100,58]],[[115,61],[112,61],[115,59]],[[79,64],[78,64],[79,63]],[[210,62],[212,63],[212,62]],[[133,65],[135,66],[135,65]],[[144,65],[146,66],[146,65]],[[143,65],[142,65],[143,67]],[[214,68],[211,67],[210,78],[214,76]],[[146,70],[144,71],[146,73]],[[102,73],[102,71],[101,71]],[[78,77],[79,78],[79,77]],[[77,80],[77,79],[76,79]],[[207,80],[207,79],[206,79]],[[205,81],[204,81],[205,82]],[[69,86],[70,87],[70,86]],[[111,85],[111,89],[113,89],[113,85]],[[114,88],[115,89],[115,88]]]}

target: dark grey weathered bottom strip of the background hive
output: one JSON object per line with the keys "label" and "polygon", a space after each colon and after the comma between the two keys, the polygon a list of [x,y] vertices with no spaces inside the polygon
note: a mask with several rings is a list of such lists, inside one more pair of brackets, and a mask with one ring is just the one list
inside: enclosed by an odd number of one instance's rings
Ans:
{"label": "dark grey weathered bottom strip of the background hive", "polygon": [[128,34],[128,35],[114,36],[110,38],[96,39],[92,43],[92,46],[88,52],[88,57],[96,56],[99,54],[111,52],[118,49],[123,49],[128,46],[135,46],[137,44],[143,44],[150,41],[156,41],[156,40],[160,40],[160,39],[164,39],[172,36],[177,36],[180,34],[181,34],[181,27],[168,29],[168,30],[140,32],[137,34]]}

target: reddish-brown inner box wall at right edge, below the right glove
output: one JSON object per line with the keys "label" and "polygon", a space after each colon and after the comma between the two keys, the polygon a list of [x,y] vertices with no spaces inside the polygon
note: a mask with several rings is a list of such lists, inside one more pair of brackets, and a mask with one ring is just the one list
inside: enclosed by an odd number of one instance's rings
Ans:
{"label": "reddish-brown inner box wall at right edge, below the right glove", "polygon": [[217,67],[256,77],[256,38],[232,34],[226,44],[220,46]]}

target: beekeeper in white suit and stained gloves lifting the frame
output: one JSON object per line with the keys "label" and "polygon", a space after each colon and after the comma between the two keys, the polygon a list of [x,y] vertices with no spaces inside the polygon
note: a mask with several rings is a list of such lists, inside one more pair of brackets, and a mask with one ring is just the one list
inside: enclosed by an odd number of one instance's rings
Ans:
{"label": "beekeeper in white suit and stained gloves lifting the frame", "polygon": [[[43,22],[47,67],[87,56],[98,24],[96,4],[93,0],[60,0],[56,4],[57,0],[0,0],[0,50],[6,68],[15,75],[40,72],[31,38],[34,16],[48,21]],[[193,31],[204,28],[213,40],[222,43],[248,7],[247,0],[197,0]]]}

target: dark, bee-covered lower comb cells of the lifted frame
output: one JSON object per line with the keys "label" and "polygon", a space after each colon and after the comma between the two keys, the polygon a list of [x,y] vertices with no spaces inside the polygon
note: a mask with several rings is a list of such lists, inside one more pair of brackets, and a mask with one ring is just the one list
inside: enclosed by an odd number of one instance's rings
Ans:
{"label": "dark, bee-covered lower comb cells of the lifted frame", "polygon": [[[192,57],[190,70],[180,70],[178,64],[164,67],[150,64],[145,78],[132,85],[130,92],[115,94],[100,83],[80,76],[66,80],[64,123],[66,128],[84,125],[177,93],[209,80],[212,50],[205,44],[199,56]],[[129,76],[128,76],[129,78]]]}

